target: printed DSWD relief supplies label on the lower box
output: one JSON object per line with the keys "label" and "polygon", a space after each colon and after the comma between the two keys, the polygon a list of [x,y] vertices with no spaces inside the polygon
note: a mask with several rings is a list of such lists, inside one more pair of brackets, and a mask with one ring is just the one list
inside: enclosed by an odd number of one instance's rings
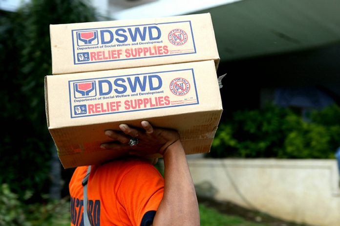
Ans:
{"label": "printed DSWD relief supplies label on the lower box", "polygon": [[193,69],[68,81],[71,118],[199,104]]}

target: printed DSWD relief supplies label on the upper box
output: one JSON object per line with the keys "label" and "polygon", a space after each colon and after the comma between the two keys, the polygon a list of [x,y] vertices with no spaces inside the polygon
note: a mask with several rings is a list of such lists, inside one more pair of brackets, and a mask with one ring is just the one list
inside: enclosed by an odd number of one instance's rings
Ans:
{"label": "printed DSWD relief supplies label on the upper box", "polygon": [[72,30],[73,63],[195,54],[191,21]]}

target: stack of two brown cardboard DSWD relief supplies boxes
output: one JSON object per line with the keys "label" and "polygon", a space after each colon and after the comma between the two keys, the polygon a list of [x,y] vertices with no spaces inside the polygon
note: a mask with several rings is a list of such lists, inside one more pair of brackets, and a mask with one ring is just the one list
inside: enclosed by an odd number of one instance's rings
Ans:
{"label": "stack of two brown cardboard DSWD relief supplies boxes", "polygon": [[125,153],[100,149],[120,123],[177,130],[209,152],[222,113],[210,14],[50,26],[48,129],[64,168]]}

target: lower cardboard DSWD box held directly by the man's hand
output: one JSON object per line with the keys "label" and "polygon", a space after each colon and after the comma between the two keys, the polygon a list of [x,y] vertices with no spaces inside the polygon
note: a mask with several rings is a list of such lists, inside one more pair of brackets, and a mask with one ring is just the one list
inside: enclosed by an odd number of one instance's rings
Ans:
{"label": "lower cardboard DSWD box held directly by the man's hand", "polygon": [[125,153],[103,150],[120,123],[177,130],[187,154],[209,152],[222,113],[213,60],[45,76],[48,129],[64,168]]}

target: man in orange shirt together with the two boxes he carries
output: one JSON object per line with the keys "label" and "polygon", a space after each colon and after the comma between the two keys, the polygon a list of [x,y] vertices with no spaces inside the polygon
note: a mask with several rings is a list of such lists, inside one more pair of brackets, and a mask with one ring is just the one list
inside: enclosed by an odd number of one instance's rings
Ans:
{"label": "man in orange shirt together with the two boxes he carries", "polygon": [[[185,155],[210,151],[222,113],[210,14],[50,34],[46,115],[64,168],[77,167],[71,225],[199,225]],[[158,157],[164,180],[148,163]]]}

